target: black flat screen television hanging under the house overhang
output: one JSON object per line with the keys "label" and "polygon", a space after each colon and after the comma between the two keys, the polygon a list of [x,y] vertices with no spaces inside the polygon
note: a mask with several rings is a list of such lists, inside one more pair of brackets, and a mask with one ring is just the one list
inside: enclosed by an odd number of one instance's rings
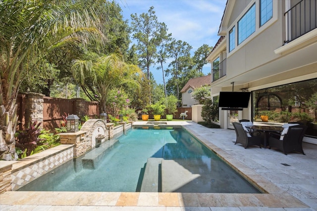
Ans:
{"label": "black flat screen television hanging under the house overhang", "polygon": [[251,92],[220,91],[218,107],[248,108]]}

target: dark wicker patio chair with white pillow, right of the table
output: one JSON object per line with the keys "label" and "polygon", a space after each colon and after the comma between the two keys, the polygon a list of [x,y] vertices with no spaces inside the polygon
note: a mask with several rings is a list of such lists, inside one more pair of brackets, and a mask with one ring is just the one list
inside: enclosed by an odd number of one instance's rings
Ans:
{"label": "dark wicker patio chair with white pillow, right of the table", "polygon": [[272,147],[277,148],[278,150],[284,152],[285,155],[287,155],[287,153],[289,152],[300,152],[305,155],[302,147],[302,142],[306,129],[307,126],[298,125],[288,127],[286,133],[269,133],[269,149],[271,149]]}

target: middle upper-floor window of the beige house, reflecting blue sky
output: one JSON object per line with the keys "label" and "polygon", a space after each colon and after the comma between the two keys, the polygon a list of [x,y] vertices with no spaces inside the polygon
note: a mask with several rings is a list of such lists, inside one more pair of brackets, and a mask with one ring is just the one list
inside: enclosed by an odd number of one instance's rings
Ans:
{"label": "middle upper-floor window of the beige house, reflecting blue sky", "polygon": [[238,44],[246,40],[256,31],[256,4],[238,21]]}

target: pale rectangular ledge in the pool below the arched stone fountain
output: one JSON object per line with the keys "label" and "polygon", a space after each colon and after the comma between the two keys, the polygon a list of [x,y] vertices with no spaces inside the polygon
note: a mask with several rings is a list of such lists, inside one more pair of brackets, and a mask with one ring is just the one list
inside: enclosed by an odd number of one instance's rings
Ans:
{"label": "pale rectangular ledge in the pool below the arched stone fountain", "polygon": [[82,159],[84,169],[96,169],[98,162],[102,159],[107,149],[117,143],[118,139],[110,139],[102,143],[99,147],[87,153]]}

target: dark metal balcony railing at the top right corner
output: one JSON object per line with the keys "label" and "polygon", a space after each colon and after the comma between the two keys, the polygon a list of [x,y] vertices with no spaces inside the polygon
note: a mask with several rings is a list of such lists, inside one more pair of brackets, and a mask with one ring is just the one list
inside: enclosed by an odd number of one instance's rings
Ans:
{"label": "dark metal balcony railing at the top right corner", "polygon": [[284,16],[287,43],[317,28],[317,0],[301,0]]}

